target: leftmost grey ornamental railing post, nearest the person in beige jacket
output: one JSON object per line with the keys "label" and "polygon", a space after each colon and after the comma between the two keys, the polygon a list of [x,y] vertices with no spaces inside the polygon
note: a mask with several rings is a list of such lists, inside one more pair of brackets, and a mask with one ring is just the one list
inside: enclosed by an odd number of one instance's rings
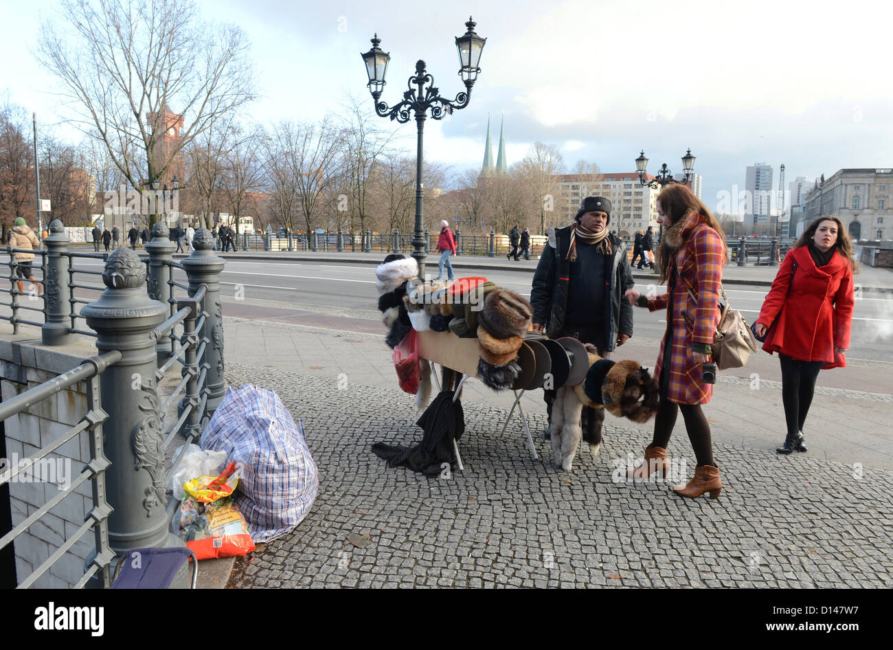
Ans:
{"label": "leftmost grey ornamental railing post, nearest the person in beige jacket", "polygon": [[71,258],[67,255],[71,240],[65,236],[63,222],[54,219],[50,223],[44,267],[44,300],[46,318],[40,328],[45,346],[64,346],[78,340],[71,334],[71,287],[68,286]]}

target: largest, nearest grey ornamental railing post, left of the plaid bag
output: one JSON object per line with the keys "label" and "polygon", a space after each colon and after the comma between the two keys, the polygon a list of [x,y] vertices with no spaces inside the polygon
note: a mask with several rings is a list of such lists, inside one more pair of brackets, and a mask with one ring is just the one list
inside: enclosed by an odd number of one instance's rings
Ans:
{"label": "largest, nearest grey ornamental railing post, left of the plaid bag", "polygon": [[[152,336],[152,330],[165,320],[168,306],[146,295],[144,264],[127,248],[109,255],[103,282],[107,287],[103,295],[80,312],[96,330],[100,354],[121,352],[121,360],[107,367],[99,380],[102,408],[108,413],[103,426],[104,454],[111,461],[105,470],[108,503],[113,508],[108,519],[109,546],[119,555],[142,546],[184,546],[168,532]],[[187,571],[182,573],[185,579]]]}

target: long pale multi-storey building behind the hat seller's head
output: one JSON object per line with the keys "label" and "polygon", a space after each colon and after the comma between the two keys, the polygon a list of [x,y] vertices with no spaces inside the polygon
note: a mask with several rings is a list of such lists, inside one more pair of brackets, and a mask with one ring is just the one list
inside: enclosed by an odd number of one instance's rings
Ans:
{"label": "long pale multi-storey building behind the hat seller's head", "polygon": [[[647,174],[647,179],[655,177]],[[548,225],[565,226],[580,209],[586,196],[607,196],[611,199],[609,229],[630,239],[636,230],[648,226],[658,229],[655,200],[660,188],[642,187],[637,171],[611,174],[563,174],[555,177],[555,215]]]}

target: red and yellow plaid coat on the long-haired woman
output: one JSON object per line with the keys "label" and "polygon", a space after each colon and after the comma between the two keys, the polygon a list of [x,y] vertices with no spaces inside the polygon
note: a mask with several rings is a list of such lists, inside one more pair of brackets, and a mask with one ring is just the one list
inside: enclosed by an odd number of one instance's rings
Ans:
{"label": "red and yellow plaid coat on the long-haired woman", "polygon": [[[720,321],[720,284],[725,247],[716,230],[696,215],[682,228],[682,246],[670,262],[670,293],[648,299],[648,309],[667,310],[667,329],[655,362],[655,378],[666,365],[667,396],[676,404],[706,404],[714,394],[692,357],[692,343],[712,344]],[[689,289],[697,300],[689,296]],[[671,300],[672,298],[672,300]],[[669,354],[667,354],[669,346]]]}

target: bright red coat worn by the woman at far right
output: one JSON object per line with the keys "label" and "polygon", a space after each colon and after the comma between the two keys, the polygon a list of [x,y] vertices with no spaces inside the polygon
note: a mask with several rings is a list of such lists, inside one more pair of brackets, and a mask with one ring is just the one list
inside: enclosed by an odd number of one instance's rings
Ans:
{"label": "bright red coat worn by the woman at far right", "polygon": [[[794,260],[797,271],[789,294]],[[843,354],[835,359],[834,348],[849,347],[853,304],[853,270],[839,252],[824,266],[816,267],[806,246],[795,248],[781,262],[756,319],[767,328],[775,322],[763,349],[799,361],[825,362],[825,369],[845,368],[847,360]]]}

